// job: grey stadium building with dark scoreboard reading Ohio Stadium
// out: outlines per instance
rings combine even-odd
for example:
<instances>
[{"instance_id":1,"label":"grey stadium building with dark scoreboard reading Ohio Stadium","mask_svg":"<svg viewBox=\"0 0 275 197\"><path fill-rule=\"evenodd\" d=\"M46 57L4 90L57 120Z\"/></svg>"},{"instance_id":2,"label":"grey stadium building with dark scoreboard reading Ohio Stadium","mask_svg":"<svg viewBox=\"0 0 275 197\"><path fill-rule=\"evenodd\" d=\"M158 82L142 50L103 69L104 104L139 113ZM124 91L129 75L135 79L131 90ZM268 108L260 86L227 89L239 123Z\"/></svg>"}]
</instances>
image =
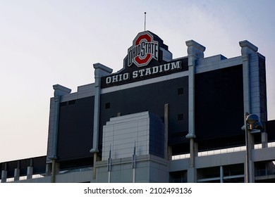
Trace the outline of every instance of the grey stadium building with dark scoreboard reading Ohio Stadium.
<instances>
[{"instance_id":1,"label":"grey stadium building with dark scoreboard reading Ohio Stadium","mask_svg":"<svg viewBox=\"0 0 275 197\"><path fill-rule=\"evenodd\" d=\"M118 72L95 63L77 92L55 84L47 155L1 163L1 182L275 182L264 56L185 43L173 59L140 32Z\"/></svg>"}]
</instances>

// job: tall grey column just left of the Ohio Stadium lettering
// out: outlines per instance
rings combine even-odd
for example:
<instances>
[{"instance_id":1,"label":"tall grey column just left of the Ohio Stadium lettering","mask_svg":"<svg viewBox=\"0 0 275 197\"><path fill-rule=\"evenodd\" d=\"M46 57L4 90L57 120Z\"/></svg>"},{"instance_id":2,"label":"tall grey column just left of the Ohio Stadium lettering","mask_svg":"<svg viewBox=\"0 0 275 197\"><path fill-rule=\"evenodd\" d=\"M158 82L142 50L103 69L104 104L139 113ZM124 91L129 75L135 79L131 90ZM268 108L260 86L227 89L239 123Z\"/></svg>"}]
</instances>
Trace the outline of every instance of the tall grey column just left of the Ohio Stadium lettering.
<instances>
[{"instance_id":1,"label":"tall grey column just left of the Ohio Stadium lettering","mask_svg":"<svg viewBox=\"0 0 275 197\"><path fill-rule=\"evenodd\" d=\"M102 65L101 63L94 64L94 128L93 128L93 141L92 149L90 153L94 156L94 170L92 177L96 179L96 161L98 158L97 153L99 152L99 113L100 113L100 94L101 94L101 81L102 77L110 75L113 70L111 68Z\"/></svg>"}]
</instances>

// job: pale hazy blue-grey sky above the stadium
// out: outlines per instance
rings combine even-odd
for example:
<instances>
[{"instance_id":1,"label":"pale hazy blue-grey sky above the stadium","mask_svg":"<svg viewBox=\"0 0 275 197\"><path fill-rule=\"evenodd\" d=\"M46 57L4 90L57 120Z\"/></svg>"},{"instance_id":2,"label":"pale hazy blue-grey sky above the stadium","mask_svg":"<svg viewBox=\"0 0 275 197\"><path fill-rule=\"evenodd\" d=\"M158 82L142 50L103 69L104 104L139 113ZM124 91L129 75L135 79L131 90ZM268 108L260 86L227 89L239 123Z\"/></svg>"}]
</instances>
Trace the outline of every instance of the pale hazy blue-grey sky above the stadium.
<instances>
[{"instance_id":1,"label":"pale hazy blue-grey sky above the stadium","mask_svg":"<svg viewBox=\"0 0 275 197\"><path fill-rule=\"evenodd\" d=\"M47 154L52 86L94 82L94 63L114 70L145 28L173 58L185 41L204 57L240 56L248 40L266 57L268 119L275 120L275 1L0 0L0 163Z\"/></svg>"}]
</instances>

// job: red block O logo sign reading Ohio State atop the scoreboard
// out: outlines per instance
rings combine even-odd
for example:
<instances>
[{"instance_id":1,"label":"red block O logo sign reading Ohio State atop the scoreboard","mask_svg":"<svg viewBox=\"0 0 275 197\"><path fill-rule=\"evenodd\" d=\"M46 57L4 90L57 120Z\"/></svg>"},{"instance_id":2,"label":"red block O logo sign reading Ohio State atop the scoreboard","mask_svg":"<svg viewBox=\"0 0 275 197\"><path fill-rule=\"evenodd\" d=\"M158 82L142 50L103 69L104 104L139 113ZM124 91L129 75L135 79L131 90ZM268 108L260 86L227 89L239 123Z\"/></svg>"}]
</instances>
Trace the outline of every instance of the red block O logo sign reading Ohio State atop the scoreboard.
<instances>
[{"instance_id":1,"label":"red block O logo sign reading Ohio State atop the scoreboard","mask_svg":"<svg viewBox=\"0 0 275 197\"><path fill-rule=\"evenodd\" d=\"M128 66L133 63L138 67L148 65L148 63L159 58L159 42L154 41L149 32L140 32L133 41L133 46L128 49Z\"/></svg>"}]
</instances>

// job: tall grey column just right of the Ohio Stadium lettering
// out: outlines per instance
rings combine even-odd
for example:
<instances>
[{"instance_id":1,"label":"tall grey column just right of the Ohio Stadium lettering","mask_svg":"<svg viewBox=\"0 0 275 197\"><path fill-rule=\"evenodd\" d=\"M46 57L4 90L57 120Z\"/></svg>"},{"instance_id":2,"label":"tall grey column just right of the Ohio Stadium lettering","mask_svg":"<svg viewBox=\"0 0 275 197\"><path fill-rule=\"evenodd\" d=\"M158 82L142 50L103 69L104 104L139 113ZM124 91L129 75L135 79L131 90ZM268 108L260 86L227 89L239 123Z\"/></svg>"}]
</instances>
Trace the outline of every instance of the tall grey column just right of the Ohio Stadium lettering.
<instances>
[{"instance_id":1,"label":"tall grey column just right of the Ohio Stadium lettering","mask_svg":"<svg viewBox=\"0 0 275 197\"><path fill-rule=\"evenodd\" d=\"M195 61L204 58L205 47L193 40L186 42L188 46L188 134L190 139L190 167L188 168L188 182L197 182L197 169L195 157L197 144L195 143Z\"/></svg>"}]
</instances>

